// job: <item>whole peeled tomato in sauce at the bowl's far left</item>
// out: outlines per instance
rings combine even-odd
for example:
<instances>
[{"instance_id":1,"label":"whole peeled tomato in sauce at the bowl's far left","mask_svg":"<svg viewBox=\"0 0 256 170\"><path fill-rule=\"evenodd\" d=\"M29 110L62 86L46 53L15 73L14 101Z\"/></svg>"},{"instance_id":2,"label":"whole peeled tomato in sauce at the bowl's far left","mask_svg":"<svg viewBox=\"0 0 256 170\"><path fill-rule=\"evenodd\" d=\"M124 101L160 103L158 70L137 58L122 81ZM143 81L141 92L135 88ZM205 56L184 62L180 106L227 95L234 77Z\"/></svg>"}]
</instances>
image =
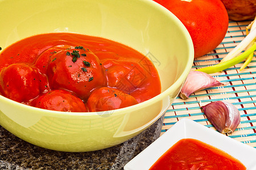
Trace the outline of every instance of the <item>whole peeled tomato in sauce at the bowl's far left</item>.
<instances>
[{"instance_id":1,"label":"whole peeled tomato in sauce at the bowl's far left","mask_svg":"<svg viewBox=\"0 0 256 170\"><path fill-rule=\"evenodd\" d=\"M20 103L39 95L39 76L25 63L14 63L2 69L0 90L3 96Z\"/></svg>"}]
</instances>

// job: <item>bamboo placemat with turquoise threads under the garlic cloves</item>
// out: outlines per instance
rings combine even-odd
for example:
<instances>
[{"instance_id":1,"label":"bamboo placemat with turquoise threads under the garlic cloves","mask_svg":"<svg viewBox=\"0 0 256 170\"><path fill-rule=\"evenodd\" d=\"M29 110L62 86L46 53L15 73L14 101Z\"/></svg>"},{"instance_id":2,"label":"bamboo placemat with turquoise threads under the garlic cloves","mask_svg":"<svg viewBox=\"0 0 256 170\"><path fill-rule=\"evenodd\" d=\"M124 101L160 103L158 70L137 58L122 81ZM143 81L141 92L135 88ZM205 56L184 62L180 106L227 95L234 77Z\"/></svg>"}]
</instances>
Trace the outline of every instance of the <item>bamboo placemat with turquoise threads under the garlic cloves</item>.
<instances>
[{"instance_id":1,"label":"bamboo placemat with turquoise threads under the garlic cloves","mask_svg":"<svg viewBox=\"0 0 256 170\"><path fill-rule=\"evenodd\" d=\"M225 39L212 52L195 59L191 70L219 63L230 50L244 39L246 36L246 26L250 24L250 22L251 21L229 22L229 28ZM196 92L189 96L189 99L187 100L182 100L177 97L165 114L160 135L184 117L199 122L210 129L216 130L201 111L200 105L206 105L211 101L226 100L234 104L241 114L240 125L232 135L229 135L229 137L256 148L255 53L250 64L244 70L240 71L242 63L243 62L238 63L224 71L210 74L218 81L225 83L225 86L208 88Z\"/></svg>"}]
</instances>

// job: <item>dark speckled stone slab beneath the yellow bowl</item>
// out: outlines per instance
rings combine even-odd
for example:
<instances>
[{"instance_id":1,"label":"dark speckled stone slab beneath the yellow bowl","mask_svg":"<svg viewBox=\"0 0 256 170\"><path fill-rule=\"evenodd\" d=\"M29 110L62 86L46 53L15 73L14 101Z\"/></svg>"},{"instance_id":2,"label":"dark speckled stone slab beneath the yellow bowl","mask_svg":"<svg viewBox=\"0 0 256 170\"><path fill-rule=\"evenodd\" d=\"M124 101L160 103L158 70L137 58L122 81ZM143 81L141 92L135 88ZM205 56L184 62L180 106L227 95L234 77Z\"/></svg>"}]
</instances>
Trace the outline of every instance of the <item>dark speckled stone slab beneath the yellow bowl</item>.
<instances>
[{"instance_id":1,"label":"dark speckled stone slab beneath the yellow bowl","mask_svg":"<svg viewBox=\"0 0 256 170\"><path fill-rule=\"evenodd\" d=\"M117 146L76 153L31 145L0 126L0 169L123 169L159 137L162 124L163 117L141 134Z\"/></svg>"}]
</instances>

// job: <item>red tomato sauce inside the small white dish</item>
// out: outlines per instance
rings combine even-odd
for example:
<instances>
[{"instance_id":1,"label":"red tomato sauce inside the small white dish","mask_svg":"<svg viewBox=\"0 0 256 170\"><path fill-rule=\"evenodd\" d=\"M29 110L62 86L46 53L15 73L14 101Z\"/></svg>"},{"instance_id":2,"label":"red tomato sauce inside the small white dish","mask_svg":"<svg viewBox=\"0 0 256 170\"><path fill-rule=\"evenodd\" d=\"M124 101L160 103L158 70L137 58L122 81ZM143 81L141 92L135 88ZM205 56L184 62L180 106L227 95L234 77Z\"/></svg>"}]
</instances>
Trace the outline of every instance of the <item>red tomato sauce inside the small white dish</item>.
<instances>
[{"instance_id":1,"label":"red tomato sauce inside the small white dish","mask_svg":"<svg viewBox=\"0 0 256 170\"><path fill-rule=\"evenodd\" d=\"M237 169L246 167L224 151L196 139L181 139L150 168L153 169Z\"/></svg>"}]
</instances>

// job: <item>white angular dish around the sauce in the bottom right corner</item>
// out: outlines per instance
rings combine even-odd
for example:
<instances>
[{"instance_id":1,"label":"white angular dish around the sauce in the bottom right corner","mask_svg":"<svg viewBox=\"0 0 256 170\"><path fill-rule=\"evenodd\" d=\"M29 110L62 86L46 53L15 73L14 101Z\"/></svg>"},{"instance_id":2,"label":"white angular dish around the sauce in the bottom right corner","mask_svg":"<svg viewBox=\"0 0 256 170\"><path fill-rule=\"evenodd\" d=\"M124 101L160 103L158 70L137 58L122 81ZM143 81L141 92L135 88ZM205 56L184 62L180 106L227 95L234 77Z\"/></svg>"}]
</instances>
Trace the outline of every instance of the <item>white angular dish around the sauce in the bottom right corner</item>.
<instances>
[{"instance_id":1,"label":"white angular dish around the sauce in the bottom right corner","mask_svg":"<svg viewBox=\"0 0 256 170\"><path fill-rule=\"evenodd\" d=\"M135 156L124 167L125 170L149 169L177 141L193 138L208 143L240 160L248 170L256 169L256 148L238 142L195 121L183 118L156 139L150 146Z\"/></svg>"}]
</instances>

